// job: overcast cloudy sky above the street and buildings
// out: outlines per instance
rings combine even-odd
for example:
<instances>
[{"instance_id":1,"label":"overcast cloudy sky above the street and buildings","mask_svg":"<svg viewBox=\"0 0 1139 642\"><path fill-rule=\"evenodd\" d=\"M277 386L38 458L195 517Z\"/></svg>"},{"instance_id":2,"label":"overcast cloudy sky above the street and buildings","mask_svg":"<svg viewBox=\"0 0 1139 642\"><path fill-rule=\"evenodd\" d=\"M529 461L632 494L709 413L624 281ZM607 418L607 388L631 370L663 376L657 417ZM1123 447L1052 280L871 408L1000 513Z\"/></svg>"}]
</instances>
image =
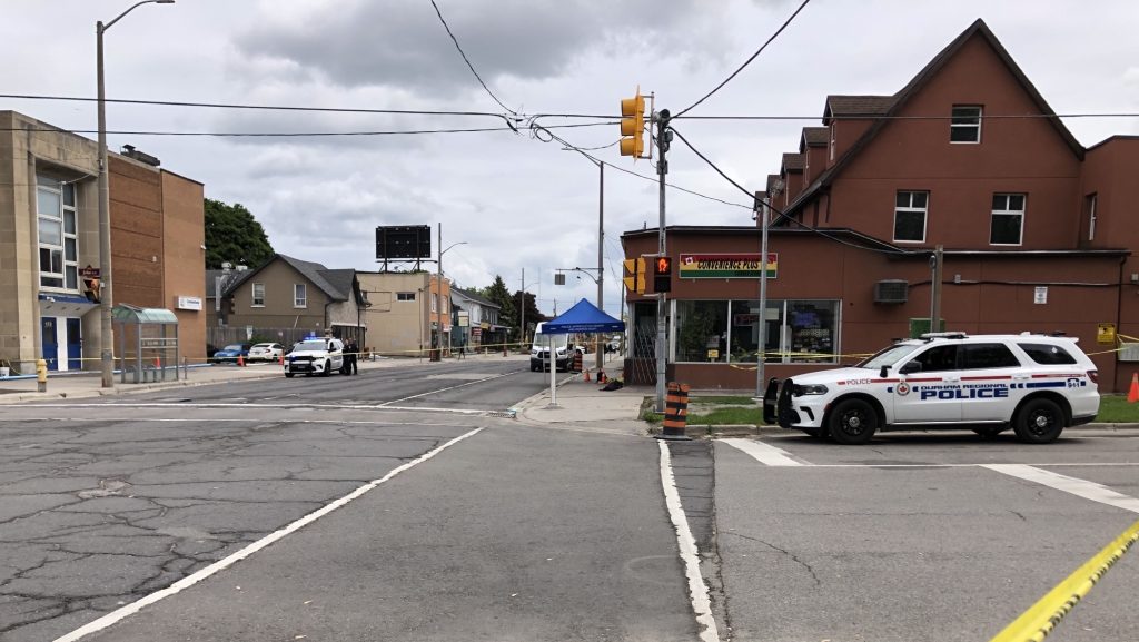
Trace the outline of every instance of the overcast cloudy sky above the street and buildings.
<instances>
[{"instance_id":1,"label":"overcast cloudy sky above the street and buildings","mask_svg":"<svg viewBox=\"0 0 1139 642\"><path fill-rule=\"evenodd\" d=\"M689 106L751 56L801 0L436 0L475 70L510 109L615 114L638 84L657 107ZM133 0L3 0L0 92L93 97L95 23ZM697 148L762 189L828 94L893 94L983 18L1059 114L1139 112L1134 0L813 0L724 89L691 115L803 121L678 121ZM338 108L505 113L480 87L429 0L178 0L139 7L106 34L107 97ZM775 89L773 89L775 88ZM92 103L0 99L72 130L95 130ZM351 132L501 127L495 117L404 116L108 105L110 131ZM547 125L599 122L548 117ZM1137 119L1068 119L1083 145L1139 133ZM555 130L581 147L615 124ZM95 135L90 135L93 139ZM460 286L526 271L549 314L595 300L598 170L527 132L216 138L116 135L162 166L247 206L278 252L329 268L375 270L375 228L443 227ZM614 165L653 176L609 147ZM752 225L746 196L677 141L670 225ZM606 169L605 308L620 307L620 235L657 222L656 186ZM433 238L434 246L434 238Z\"/></svg>"}]
</instances>

